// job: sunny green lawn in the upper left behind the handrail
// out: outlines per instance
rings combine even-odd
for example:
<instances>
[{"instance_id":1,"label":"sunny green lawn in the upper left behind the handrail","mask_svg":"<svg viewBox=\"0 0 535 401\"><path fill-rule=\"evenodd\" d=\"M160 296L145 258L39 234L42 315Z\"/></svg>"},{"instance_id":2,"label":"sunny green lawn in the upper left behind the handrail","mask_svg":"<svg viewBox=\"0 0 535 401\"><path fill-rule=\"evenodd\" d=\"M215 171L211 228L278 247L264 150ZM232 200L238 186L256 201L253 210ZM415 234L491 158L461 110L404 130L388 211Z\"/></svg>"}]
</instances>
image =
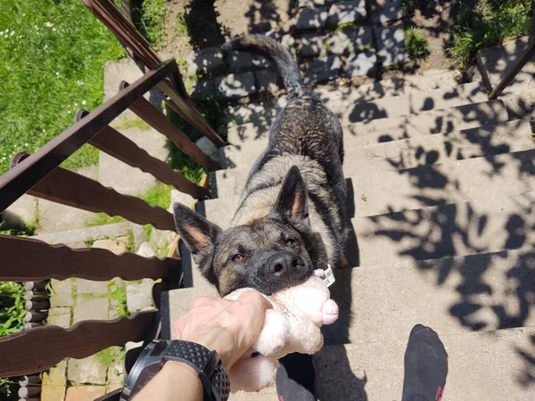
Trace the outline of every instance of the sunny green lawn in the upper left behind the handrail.
<instances>
[{"instance_id":1,"label":"sunny green lawn in the upper left behind the handrail","mask_svg":"<svg viewBox=\"0 0 535 401\"><path fill-rule=\"evenodd\" d=\"M0 7L0 174L103 101L103 65L124 50L79 0L3 0ZM86 146L67 160L95 163Z\"/></svg>"}]
</instances>

